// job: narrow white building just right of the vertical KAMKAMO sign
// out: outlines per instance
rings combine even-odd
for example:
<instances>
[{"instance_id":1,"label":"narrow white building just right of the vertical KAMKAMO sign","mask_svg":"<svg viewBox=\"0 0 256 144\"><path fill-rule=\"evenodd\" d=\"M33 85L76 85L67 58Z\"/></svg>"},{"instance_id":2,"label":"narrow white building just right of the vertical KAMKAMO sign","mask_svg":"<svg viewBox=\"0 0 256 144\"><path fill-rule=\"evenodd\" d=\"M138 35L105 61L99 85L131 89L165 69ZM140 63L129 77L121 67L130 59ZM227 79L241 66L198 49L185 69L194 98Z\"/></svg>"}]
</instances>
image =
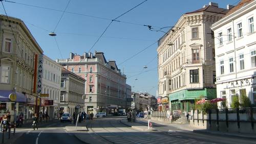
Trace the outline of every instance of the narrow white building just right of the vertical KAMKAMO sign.
<instances>
[{"instance_id":1,"label":"narrow white building just right of the vertical KAMKAMO sign","mask_svg":"<svg viewBox=\"0 0 256 144\"><path fill-rule=\"evenodd\" d=\"M57 117L59 112L61 68L60 64L44 55L41 111L47 111L51 118ZM43 94L48 97L42 97ZM47 103L49 100L53 101L53 105Z\"/></svg>"}]
</instances>

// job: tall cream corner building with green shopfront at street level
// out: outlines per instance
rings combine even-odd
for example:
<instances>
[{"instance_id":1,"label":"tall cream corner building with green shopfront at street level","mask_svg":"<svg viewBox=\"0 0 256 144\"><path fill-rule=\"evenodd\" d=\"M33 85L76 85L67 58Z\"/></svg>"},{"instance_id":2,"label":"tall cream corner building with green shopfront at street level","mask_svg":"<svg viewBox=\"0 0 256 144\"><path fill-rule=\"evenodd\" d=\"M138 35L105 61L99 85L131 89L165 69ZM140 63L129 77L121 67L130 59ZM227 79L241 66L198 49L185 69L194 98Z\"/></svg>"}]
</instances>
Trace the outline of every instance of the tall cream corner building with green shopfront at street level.
<instances>
[{"instance_id":1,"label":"tall cream corner building with green shopfront at street level","mask_svg":"<svg viewBox=\"0 0 256 144\"><path fill-rule=\"evenodd\" d=\"M215 43L210 26L228 10L209 3L183 14L158 41L158 102L160 110L189 111L195 99L216 97ZM165 101L164 101L165 102Z\"/></svg>"}]
</instances>

